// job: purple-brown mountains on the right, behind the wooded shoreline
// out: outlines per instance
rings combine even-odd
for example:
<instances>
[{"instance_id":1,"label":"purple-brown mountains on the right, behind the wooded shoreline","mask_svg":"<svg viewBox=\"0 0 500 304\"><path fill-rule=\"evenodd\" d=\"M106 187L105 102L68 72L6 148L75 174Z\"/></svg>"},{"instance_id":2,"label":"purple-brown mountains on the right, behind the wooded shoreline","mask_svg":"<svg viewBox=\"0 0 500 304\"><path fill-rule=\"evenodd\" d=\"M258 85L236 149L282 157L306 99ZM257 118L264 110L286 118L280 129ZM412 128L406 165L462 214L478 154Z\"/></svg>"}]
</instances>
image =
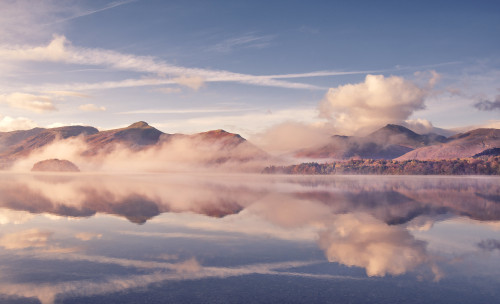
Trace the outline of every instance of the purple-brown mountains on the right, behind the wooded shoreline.
<instances>
[{"instance_id":1,"label":"purple-brown mountains on the right, behind the wooded shoreline","mask_svg":"<svg viewBox=\"0 0 500 304\"><path fill-rule=\"evenodd\" d=\"M388 124L363 137L334 135L326 145L301 149L294 156L333 160L437 160L473 157L497 147L500 147L498 129L475 129L444 137L434 133L417 134L403 126Z\"/></svg>"}]
</instances>

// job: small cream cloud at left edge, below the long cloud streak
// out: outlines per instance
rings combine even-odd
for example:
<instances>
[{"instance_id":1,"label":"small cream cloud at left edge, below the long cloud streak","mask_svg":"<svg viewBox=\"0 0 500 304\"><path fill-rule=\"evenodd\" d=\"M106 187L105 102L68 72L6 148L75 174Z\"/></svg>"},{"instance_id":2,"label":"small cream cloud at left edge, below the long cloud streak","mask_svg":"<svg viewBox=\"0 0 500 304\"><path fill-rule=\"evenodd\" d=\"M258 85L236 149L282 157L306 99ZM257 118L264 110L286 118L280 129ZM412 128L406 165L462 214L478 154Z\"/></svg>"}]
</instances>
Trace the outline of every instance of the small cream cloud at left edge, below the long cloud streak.
<instances>
[{"instance_id":1,"label":"small cream cloud at left edge, below the long cloud streak","mask_svg":"<svg viewBox=\"0 0 500 304\"><path fill-rule=\"evenodd\" d=\"M54 100L47 95L33 95L27 93L11 93L0 95L0 102L10 107L42 113L56 111Z\"/></svg>"}]
</instances>

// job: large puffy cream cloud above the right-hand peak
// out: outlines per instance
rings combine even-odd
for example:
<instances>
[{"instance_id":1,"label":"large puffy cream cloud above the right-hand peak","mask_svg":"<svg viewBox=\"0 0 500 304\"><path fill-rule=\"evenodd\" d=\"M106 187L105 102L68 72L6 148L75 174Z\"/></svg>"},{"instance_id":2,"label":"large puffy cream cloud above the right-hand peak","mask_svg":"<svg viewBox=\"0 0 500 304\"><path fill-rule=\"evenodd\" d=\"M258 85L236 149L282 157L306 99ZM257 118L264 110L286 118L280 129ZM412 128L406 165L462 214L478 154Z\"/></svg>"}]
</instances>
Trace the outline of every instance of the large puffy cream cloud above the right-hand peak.
<instances>
[{"instance_id":1,"label":"large puffy cream cloud above the right-hand peak","mask_svg":"<svg viewBox=\"0 0 500 304\"><path fill-rule=\"evenodd\" d=\"M319 104L320 117L347 133L401 123L425 107L436 77L418 86L399 76L367 75L362 83L329 89Z\"/></svg>"}]
</instances>

